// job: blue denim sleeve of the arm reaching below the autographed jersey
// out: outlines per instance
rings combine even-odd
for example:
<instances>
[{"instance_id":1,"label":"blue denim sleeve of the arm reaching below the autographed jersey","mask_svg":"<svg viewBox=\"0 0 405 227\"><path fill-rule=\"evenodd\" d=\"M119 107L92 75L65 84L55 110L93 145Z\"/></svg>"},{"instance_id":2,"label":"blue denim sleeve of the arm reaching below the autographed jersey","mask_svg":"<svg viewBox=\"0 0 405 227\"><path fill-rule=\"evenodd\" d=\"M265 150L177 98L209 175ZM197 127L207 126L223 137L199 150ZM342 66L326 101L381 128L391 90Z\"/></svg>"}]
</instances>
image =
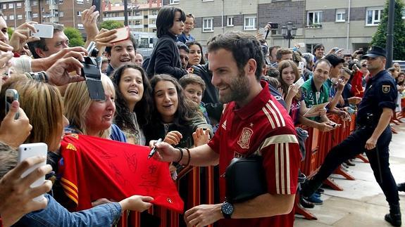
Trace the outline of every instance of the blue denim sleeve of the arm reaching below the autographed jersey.
<instances>
[{"instance_id":1,"label":"blue denim sleeve of the arm reaching below the autographed jersey","mask_svg":"<svg viewBox=\"0 0 405 227\"><path fill-rule=\"evenodd\" d=\"M46 194L45 197L48 200L45 209L25 214L14 226L113 226L121 216L121 206L118 202L106 203L81 212L69 212L51 195Z\"/></svg>"}]
</instances>

